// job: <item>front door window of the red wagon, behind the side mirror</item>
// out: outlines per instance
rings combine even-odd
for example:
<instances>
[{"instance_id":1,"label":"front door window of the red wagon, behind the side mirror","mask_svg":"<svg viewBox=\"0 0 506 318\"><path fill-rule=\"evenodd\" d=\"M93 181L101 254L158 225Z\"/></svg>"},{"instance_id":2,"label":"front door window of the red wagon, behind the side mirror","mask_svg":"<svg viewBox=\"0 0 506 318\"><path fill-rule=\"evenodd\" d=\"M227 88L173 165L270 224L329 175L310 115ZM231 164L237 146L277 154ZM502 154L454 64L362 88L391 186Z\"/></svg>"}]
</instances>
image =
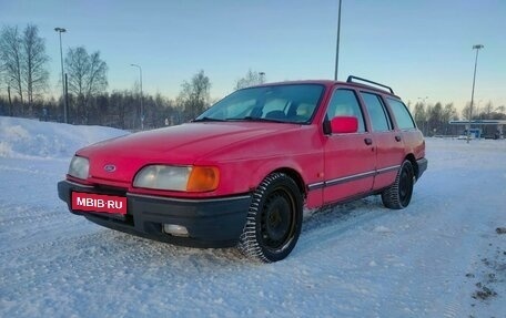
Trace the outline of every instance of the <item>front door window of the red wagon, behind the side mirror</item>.
<instances>
[{"instance_id":1,"label":"front door window of the red wagon, behind the side mirror","mask_svg":"<svg viewBox=\"0 0 506 318\"><path fill-rule=\"evenodd\" d=\"M328 120L335 116L355 116L358 120L358 133L365 132L364 115L354 91L336 90L328 103L326 115Z\"/></svg>"}]
</instances>

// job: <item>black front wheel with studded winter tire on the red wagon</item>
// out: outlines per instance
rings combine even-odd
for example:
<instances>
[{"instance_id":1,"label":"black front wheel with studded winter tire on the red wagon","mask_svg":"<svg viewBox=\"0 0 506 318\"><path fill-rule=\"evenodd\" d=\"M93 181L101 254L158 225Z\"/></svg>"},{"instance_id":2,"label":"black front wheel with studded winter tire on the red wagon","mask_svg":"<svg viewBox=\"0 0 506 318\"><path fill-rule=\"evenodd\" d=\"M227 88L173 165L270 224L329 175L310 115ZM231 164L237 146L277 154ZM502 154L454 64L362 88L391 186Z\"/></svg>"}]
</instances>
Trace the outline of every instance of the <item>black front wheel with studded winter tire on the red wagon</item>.
<instances>
[{"instance_id":1,"label":"black front wheel with studded winter tire on the red wagon","mask_svg":"<svg viewBox=\"0 0 506 318\"><path fill-rule=\"evenodd\" d=\"M302 195L284 173L265 177L253 193L237 248L263 263L284 259L297 243L302 227Z\"/></svg>"}]
</instances>

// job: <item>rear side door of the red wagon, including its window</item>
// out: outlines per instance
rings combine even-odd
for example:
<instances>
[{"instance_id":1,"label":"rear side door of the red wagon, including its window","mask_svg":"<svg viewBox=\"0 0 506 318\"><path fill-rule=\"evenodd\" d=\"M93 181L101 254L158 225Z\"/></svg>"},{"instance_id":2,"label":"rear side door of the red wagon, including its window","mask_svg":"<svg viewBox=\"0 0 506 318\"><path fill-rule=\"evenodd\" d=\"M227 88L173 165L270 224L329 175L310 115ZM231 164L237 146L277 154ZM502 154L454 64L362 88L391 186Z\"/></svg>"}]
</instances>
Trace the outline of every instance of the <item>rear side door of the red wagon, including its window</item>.
<instances>
[{"instance_id":1,"label":"rear side door of the red wagon, including its window","mask_svg":"<svg viewBox=\"0 0 506 318\"><path fill-rule=\"evenodd\" d=\"M373 189L381 189L394 183L404 161L402 134L394 130L392 117L380 94L361 91L360 93L371 123L376 153L376 175Z\"/></svg>"}]
</instances>

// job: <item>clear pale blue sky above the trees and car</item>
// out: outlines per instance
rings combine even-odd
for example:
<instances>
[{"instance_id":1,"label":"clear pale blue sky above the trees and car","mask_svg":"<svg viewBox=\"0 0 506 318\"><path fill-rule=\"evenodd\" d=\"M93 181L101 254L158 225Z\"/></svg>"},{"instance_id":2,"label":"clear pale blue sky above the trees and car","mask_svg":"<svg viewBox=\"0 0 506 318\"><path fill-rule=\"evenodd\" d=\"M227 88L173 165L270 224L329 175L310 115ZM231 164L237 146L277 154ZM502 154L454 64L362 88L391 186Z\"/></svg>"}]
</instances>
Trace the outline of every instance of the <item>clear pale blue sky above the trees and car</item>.
<instances>
[{"instance_id":1,"label":"clear pale blue sky above the trees and car","mask_svg":"<svg viewBox=\"0 0 506 318\"><path fill-rule=\"evenodd\" d=\"M175 98L181 83L204 70L212 98L232 92L249 69L267 81L333 79L337 0L73 1L0 0L0 24L39 27L59 92L63 49L99 50L109 65L109 91L143 89ZM340 80L348 74L391 85L405 102L470 100L506 105L506 1L343 0Z\"/></svg>"}]
</instances>

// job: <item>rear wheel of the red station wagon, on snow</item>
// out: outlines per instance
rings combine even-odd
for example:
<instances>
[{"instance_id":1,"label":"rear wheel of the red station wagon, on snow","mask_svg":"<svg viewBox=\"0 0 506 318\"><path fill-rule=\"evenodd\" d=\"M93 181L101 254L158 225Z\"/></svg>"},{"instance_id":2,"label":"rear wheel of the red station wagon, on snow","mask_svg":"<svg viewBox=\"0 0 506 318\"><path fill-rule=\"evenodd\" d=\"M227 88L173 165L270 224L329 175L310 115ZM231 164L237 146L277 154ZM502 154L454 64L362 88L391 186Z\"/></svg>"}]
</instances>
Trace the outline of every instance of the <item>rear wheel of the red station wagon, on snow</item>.
<instances>
[{"instance_id":1,"label":"rear wheel of the red station wagon, on snow","mask_svg":"<svg viewBox=\"0 0 506 318\"><path fill-rule=\"evenodd\" d=\"M402 209L408 206L413 195L415 173L413 164L406 160L401 166L394 184L382 192L383 205L393 209Z\"/></svg>"}]
</instances>

